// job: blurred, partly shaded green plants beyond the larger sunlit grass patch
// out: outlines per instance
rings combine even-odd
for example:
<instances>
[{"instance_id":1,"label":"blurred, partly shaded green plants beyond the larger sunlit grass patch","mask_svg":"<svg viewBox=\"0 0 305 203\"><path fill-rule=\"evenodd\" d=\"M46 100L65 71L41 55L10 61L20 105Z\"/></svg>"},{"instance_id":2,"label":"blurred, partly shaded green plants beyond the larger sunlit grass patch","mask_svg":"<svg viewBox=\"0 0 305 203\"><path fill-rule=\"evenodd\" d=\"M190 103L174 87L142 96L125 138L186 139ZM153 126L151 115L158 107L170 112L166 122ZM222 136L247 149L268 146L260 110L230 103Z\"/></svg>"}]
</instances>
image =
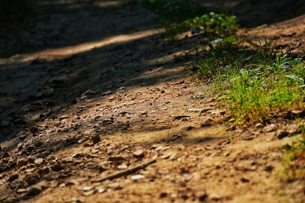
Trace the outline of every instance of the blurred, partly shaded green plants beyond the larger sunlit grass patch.
<instances>
[{"instance_id":1,"label":"blurred, partly shaded green plants beyond the larger sunlit grass patch","mask_svg":"<svg viewBox=\"0 0 305 203\"><path fill-rule=\"evenodd\" d=\"M159 15L159 23L165 28L169 40L178 40L177 35L192 30L192 33L204 32L210 38L213 35L231 35L238 27L235 16L215 14L198 6L196 0L127 0L140 2ZM200 17L198 17L200 16Z\"/></svg>"}]
</instances>

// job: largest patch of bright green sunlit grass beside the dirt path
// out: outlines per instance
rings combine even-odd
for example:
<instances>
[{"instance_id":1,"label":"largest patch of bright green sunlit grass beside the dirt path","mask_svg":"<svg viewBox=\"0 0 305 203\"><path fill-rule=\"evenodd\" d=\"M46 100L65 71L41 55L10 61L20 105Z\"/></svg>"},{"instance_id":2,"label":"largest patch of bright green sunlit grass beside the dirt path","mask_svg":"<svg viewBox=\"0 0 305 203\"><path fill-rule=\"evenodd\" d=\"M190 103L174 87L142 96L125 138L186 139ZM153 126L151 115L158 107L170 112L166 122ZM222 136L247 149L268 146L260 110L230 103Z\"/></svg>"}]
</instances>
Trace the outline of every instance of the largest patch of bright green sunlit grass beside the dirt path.
<instances>
[{"instance_id":1,"label":"largest patch of bright green sunlit grass beside the dirt path","mask_svg":"<svg viewBox=\"0 0 305 203\"><path fill-rule=\"evenodd\" d=\"M272 111L304 109L305 68L302 57L270 55L247 41L218 40L198 66L202 79L212 78L212 92L239 122L272 119Z\"/></svg>"}]
</instances>

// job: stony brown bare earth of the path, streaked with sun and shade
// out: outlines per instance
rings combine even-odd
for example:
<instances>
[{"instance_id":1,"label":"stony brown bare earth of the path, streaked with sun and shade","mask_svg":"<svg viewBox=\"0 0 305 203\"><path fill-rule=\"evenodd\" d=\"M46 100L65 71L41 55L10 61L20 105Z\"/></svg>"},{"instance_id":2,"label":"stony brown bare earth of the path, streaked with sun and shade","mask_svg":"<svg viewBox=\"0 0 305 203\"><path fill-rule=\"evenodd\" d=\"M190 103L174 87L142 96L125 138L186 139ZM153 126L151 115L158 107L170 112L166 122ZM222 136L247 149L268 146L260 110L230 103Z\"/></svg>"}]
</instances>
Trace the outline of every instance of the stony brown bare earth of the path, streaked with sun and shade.
<instances>
[{"instance_id":1,"label":"stony brown bare earth of the path, streaked with sun and shade","mask_svg":"<svg viewBox=\"0 0 305 203\"><path fill-rule=\"evenodd\" d=\"M209 85L185 71L192 61L174 61L204 37L166 41L157 15L138 4L38 2L46 15L24 32L19 54L0 59L0 202L304 203L304 180L280 181L291 140L277 132L297 133L298 123L232 129ZM305 54L298 3L295 15L256 22L247 6L266 5L237 2L232 11L252 26L237 35Z\"/></svg>"}]
</instances>

